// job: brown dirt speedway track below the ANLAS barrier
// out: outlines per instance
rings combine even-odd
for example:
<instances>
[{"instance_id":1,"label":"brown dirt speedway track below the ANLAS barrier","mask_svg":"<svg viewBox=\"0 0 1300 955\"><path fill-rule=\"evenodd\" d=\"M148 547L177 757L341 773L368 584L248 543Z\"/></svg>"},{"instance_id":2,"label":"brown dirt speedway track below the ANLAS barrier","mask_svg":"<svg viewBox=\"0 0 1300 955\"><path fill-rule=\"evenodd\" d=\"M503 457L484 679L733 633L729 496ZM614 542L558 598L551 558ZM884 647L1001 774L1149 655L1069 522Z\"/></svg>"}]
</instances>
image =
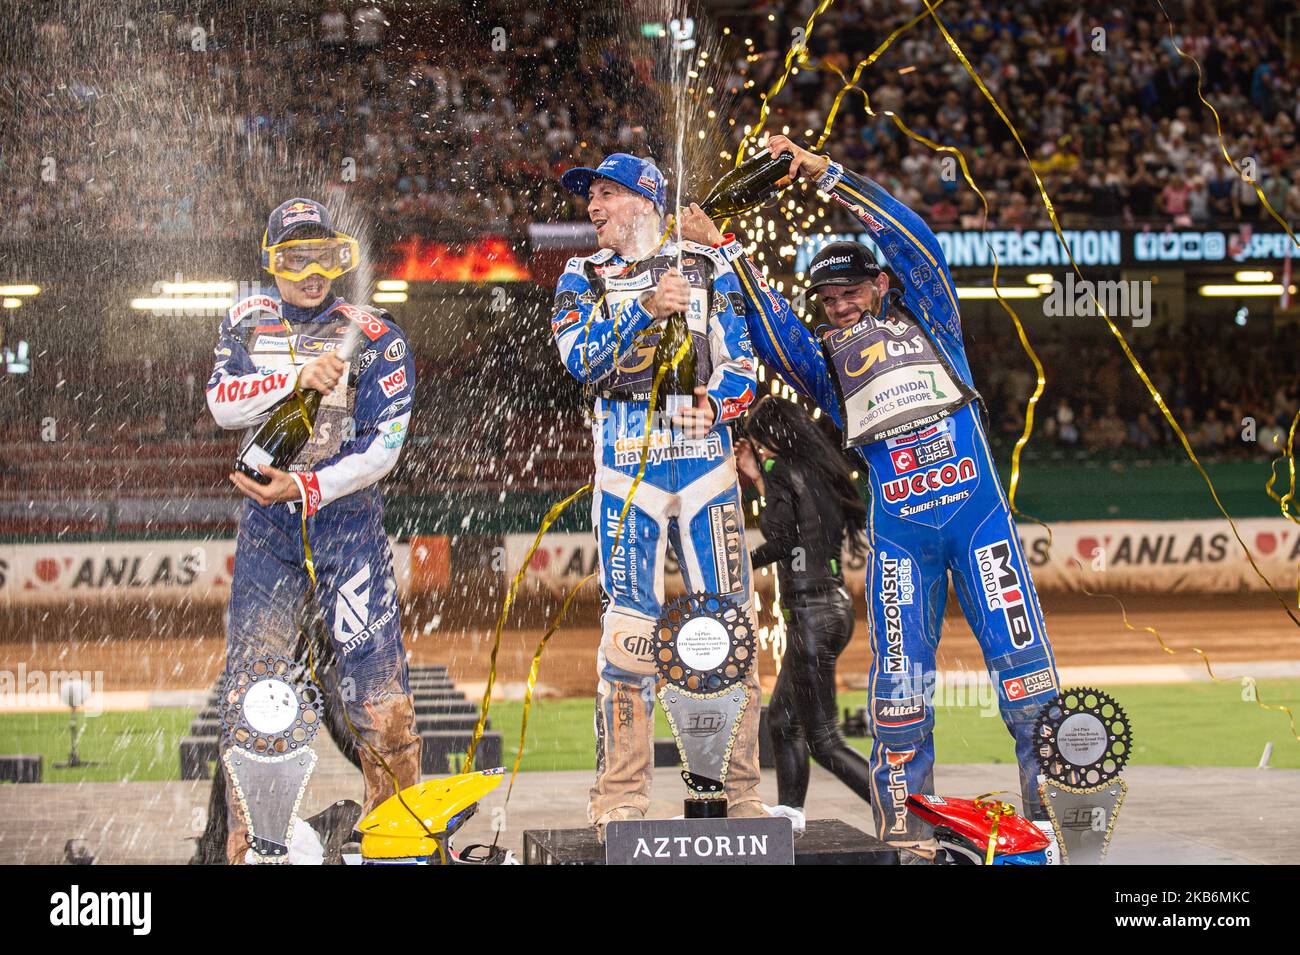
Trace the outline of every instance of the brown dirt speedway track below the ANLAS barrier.
<instances>
[{"instance_id":1,"label":"brown dirt speedway track below the ANLAS barrier","mask_svg":"<svg viewBox=\"0 0 1300 955\"><path fill-rule=\"evenodd\" d=\"M1105 598L1045 595L1048 633L1063 667L1183 664L1200 665L1191 651L1202 648L1212 661L1300 660L1300 629L1271 595L1134 595L1124 598L1138 633L1124 629L1119 608ZM29 612L30 613L30 612ZM498 680L519 683L528 676L537 643L554 613L547 602L533 602L512 615L502 637ZM462 617L464 615L456 615ZM594 604L576 605L542 657L541 682L558 695L594 693L594 657L599 641ZM429 625L420 608L407 613L407 647L416 664L445 663L458 682L481 683L488 677L494 613ZM533 626L519 628L520 621ZM0 621L0 669L26 664L29 670L103 670L105 690L179 690L211 686L225 644L221 615L214 608L157 615L120 608L44 611L39 616ZM1141 628L1153 626L1179 652L1160 650ZM156 637L159 631L168 637ZM69 637L74 634L74 637ZM771 655L760 656L764 683L775 677ZM862 607L853 643L840 664L841 685L863 686L871 660ZM939 648L940 669L982 670L983 657L965 620L950 602Z\"/></svg>"}]
</instances>

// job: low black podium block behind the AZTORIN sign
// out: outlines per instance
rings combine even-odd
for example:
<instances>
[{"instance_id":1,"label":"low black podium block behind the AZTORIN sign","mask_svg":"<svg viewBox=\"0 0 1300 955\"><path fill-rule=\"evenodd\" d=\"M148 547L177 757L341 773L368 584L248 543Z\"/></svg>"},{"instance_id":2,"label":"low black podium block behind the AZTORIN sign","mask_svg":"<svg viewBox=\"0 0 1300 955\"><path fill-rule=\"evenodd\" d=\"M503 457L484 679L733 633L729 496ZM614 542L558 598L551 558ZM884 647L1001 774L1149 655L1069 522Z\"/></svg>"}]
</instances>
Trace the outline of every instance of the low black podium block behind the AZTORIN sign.
<instances>
[{"instance_id":1,"label":"low black podium block behind the AZTORIN sign","mask_svg":"<svg viewBox=\"0 0 1300 955\"><path fill-rule=\"evenodd\" d=\"M525 865L604 865L595 829L528 829ZM809 820L794 839L796 865L897 865L898 854L861 829L837 819Z\"/></svg>"}]
</instances>

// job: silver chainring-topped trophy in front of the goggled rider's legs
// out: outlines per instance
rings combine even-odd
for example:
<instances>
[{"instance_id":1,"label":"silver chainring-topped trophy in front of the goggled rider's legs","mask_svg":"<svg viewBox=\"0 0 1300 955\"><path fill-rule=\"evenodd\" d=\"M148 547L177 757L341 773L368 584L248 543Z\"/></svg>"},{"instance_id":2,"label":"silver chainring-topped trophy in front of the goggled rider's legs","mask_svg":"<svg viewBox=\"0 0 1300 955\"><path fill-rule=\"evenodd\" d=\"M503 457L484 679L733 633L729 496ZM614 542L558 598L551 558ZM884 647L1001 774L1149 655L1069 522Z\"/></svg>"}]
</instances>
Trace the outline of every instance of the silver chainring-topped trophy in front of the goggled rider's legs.
<instances>
[{"instance_id":1,"label":"silver chainring-topped trophy in front of the goggled rider's legs","mask_svg":"<svg viewBox=\"0 0 1300 955\"><path fill-rule=\"evenodd\" d=\"M221 687L221 761L248 825L254 861L287 863L298 804L316 767L321 691L282 656L239 663Z\"/></svg>"}]
</instances>

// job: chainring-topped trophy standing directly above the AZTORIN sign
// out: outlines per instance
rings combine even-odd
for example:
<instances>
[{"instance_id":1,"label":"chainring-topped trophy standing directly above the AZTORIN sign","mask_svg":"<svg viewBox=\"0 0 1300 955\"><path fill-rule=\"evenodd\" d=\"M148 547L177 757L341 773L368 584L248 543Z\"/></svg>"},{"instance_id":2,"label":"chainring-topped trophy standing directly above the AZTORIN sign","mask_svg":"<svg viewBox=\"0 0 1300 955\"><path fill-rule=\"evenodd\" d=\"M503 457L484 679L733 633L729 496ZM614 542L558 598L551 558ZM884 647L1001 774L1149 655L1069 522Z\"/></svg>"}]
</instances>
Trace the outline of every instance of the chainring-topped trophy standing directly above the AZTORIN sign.
<instances>
[{"instance_id":1,"label":"chainring-topped trophy standing directly above the AZTORIN sign","mask_svg":"<svg viewBox=\"0 0 1300 955\"><path fill-rule=\"evenodd\" d=\"M681 755L686 819L727 815L727 769L749 703L744 680L754 661L749 616L718 594L686 594L655 626L659 704Z\"/></svg>"}]
</instances>

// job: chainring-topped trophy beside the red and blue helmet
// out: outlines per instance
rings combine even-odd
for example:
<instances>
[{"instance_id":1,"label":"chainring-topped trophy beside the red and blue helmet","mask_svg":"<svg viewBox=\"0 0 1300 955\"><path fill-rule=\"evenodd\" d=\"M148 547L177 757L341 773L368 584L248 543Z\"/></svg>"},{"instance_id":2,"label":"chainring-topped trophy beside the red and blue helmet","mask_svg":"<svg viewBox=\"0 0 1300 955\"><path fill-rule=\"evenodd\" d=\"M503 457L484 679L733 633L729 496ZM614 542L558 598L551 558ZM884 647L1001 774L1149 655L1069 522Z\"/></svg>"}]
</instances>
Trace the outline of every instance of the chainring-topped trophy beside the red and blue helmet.
<instances>
[{"instance_id":1,"label":"chainring-topped trophy beside the red and blue helmet","mask_svg":"<svg viewBox=\"0 0 1300 955\"><path fill-rule=\"evenodd\" d=\"M1132 746L1128 716L1101 690L1075 687L1043 707L1034 730L1061 861L1100 865L1128 791L1119 778Z\"/></svg>"}]
</instances>

